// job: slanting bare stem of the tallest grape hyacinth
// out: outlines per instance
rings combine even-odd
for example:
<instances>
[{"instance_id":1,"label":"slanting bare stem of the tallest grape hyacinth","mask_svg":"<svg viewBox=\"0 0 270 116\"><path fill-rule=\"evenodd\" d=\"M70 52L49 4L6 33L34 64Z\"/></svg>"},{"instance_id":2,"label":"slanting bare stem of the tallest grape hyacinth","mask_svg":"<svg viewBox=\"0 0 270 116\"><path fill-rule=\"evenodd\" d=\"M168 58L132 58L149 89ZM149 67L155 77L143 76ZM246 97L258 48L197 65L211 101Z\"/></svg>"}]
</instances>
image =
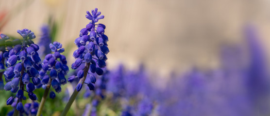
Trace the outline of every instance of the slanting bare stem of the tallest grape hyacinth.
<instances>
[{"instance_id":1,"label":"slanting bare stem of the tallest grape hyacinth","mask_svg":"<svg viewBox=\"0 0 270 116\"><path fill-rule=\"evenodd\" d=\"M90 67L90 63L87 63L87 64L85 64L85 65L86 65L86 66L85 66L85 68L84 68L84 77L83 77L83 78L80 80L80 82L79 82L79 83L81 83L81 84L83 84L83 85L84 85L85 78L86 78L86 76L87 76L87 72L88 72L89 67ZM78 84L79 84L79 83L78 83ZM72 103L74 102L74 100L75 100L76 96L78 95L78 93L79 93L79 91L77 91L77 88L75 88L75 90L74 90L74 92L72 93L72 95L70 96L70 98L69 98L69 100L68 100L68 102L67 102L67 105L66 105L64 111L62 112L61 116L67 116L67 112L68 112L68 110L70 109L70 107L71 107Z\"/></svg>"}]
</instances>

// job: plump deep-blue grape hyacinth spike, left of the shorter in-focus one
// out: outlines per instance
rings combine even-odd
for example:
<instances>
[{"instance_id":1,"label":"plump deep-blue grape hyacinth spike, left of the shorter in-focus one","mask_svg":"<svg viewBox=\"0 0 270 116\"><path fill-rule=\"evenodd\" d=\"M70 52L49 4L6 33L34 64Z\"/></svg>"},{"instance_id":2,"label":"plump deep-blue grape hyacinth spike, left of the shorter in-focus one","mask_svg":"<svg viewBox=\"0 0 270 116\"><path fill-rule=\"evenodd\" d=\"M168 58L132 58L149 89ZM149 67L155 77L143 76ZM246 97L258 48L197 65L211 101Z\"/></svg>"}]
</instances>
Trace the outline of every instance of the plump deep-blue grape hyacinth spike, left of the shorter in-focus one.
<instances>
[{"instance_id":1,"label":"plump deep-blue grape hyacinth spike, left of the shorter in-focus one","mask_svg":"<svg viewBox=\"0 0 270 116\"><path fill-rule=\"evenodd\" d=\"M9 50L9 58L6 62L8 68L4 72L7 80L4 89L17 93L15 115L18 114L18 111L20 113L24 111L22 104L24 91L28 92L31 100L35 101L37 99L33 91L40 85L38 71L42 68L41 59L37 53L39 47L32 41L35 38L34 32L29 29L17 30L17 32L23 37L23 40L22 42L16 40L18 44ZM32 80L32 83L30 80ZM24 89L25 86L26 90Z\"/></svg>"}]
</instances>

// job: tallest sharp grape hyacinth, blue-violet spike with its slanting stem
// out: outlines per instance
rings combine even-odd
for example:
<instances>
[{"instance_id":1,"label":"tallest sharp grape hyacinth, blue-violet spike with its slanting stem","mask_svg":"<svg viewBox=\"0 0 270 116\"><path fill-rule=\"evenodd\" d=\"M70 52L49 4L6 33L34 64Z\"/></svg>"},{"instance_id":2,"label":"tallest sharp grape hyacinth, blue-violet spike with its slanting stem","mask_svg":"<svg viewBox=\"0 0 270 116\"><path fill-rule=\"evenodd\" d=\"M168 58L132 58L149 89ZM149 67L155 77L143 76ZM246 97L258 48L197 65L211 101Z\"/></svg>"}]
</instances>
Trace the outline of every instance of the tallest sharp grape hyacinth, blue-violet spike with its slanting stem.
<instances>
[{"instance_id":1,"label":"tallest sharp grape hyacinth, blue-violet spike with its slanting stem","mask_svg":"<svg viewBox=\"0 0 270 116\"><path fill-rule=\"evenodd\" d=\"M109 53L107 47L108 37L104 34L106 27L103 24L96 24L100 19L104 18L104 15L101 15L101 12L98 12L98 9L95 8L91 13L87 11L85 17L90 20L90 23L84 29L81 29L79 37L74 41L78 49L73 52L73 57L76 58L76 61L71 65L71 69L75 70L80 65L84 65L84 63L85 66L84 70L74 75L76 78L80 78L80 82L67 102L67 106L61 116L67 115L67 111L83 87L87 73L102 75L102 68L106 66L106 54Z\"/></svg>"}]
</instances>

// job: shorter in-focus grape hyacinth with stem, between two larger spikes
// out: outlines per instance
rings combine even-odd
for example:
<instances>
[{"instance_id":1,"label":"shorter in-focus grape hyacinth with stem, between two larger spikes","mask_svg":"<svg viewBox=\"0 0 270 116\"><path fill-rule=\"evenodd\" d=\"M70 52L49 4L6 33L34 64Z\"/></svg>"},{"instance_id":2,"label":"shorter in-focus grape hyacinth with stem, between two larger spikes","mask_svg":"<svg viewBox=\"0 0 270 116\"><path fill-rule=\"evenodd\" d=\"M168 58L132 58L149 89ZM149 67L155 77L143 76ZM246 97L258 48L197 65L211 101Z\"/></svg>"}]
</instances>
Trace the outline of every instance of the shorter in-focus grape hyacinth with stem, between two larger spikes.
<instances>
[{"instance_id":1,"label":"shorter in-focus grape hyacinth with stem, between two larger spikes","mask_svg":"<svg viewBox=\"0 0 270 116\"><path fill-rule=\"evenodd\" d=\"M43 60L42 69L39 72L41 76L41 84L45 86L45 92L40 102L40 107L37 112L37 116L41 115L44 103L49 94L50 87L52 87L55 92L61 92L61 85L65 85L67 83L67 79L65 75L68 73L67 60L63 53L65 51L62 48L62 44L59 42L50 43L51 51L54 54L48 54L45 56ZM47 74L48 73L48 74ZM55 98L55 93L53 91L50 92L50 98Z\"/></svg>"}]
</instances>

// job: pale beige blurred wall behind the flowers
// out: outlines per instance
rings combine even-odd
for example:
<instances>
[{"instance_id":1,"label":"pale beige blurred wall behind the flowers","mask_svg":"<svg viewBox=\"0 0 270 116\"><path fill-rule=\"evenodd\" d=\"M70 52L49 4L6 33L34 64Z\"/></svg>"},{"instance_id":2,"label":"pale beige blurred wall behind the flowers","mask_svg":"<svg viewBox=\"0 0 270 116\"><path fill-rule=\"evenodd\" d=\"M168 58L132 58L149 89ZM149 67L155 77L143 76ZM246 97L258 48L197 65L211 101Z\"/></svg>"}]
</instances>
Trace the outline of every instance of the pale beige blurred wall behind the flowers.
<instances>
[{"instance_id":1,"label":"pale beige blurred wall behind the flowers","mask_svg":"<svg viewBox=\"0 0 270 116\"><path fill-rule=\"evenodd\" d=\"M18 36L17 29L28 28L39 35L51 14L61 26L57 41L74 47L72 54L75 45L67 44L89 22L85 12L94 8L105 15L99 23L106 25L109 37L109 68L144 62L166 74L215 67L219 46L242 42L247 23L259 28L270 49L270 0L0 0L0 11L12 17L2 33ZM71 54L69 61L74 60Z\"/></svg>"}]
</instances>

